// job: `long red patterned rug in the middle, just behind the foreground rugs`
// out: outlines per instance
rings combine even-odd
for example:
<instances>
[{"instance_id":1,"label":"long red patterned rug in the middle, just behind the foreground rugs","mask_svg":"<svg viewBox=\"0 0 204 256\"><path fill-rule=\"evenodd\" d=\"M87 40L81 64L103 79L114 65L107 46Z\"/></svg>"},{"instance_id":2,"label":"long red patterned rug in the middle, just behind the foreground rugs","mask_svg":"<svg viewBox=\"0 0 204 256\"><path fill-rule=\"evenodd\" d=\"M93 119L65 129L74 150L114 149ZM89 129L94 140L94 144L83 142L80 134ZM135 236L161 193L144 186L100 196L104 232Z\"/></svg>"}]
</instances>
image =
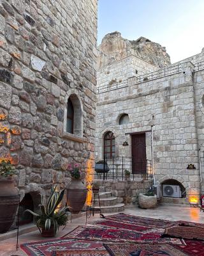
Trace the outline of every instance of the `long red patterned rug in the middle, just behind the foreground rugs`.
<instances>
[{"instance_id":1,"label":"long red patterned rug in the middle, just behind the foreground rugs","mask_svg":"<svg viewBox=\"0 0 204 256\"><path fill-rule=\"evenodd\" d=\"M98 241L185 244L183 239L171 237L161 238L161 235L156 232L143 234L122 228L94 226L78 226L64 237L73 239L94 239Z\"/></svg>"}]
</instances>

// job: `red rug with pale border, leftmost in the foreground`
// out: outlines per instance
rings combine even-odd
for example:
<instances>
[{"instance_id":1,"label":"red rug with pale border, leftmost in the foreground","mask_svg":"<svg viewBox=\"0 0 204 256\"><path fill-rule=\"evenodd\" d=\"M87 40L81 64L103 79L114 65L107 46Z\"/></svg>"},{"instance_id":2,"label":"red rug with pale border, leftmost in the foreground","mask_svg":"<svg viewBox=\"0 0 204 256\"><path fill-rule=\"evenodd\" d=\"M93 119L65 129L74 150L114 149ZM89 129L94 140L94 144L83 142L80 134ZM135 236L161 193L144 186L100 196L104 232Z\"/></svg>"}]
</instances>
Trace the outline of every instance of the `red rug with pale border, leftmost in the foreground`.
<instances>
[{"instance_id":1,"label":"red rug with pale border, leftmost in the foreground","mask_svg":"<svg viewBox=\"0 0 204 256\"><path fill-rule=\"evenodd\" d=\"M87 240L68 239L68 238L21 244L20 248L24 250L24 252L27 253L27 255L29 256L51 256L52 251L58 251L58 250L59 251L68 250L68 252L70 250L71 253L73 253L73 251L82 252L82 250L89 250L89 253L95 252L96 250L105 252L105 248L101 241L87 241ZM63 254L59 254L59 255L63 255ZM75 255L75 254L67 254L67 255ZM78 256L80 254L76 254L76 255ZM87 254L87 256L88 255L92 256L94 254ZM108 254L106 253L101 255L108 255Z\"/></svg>"}]
</instances>

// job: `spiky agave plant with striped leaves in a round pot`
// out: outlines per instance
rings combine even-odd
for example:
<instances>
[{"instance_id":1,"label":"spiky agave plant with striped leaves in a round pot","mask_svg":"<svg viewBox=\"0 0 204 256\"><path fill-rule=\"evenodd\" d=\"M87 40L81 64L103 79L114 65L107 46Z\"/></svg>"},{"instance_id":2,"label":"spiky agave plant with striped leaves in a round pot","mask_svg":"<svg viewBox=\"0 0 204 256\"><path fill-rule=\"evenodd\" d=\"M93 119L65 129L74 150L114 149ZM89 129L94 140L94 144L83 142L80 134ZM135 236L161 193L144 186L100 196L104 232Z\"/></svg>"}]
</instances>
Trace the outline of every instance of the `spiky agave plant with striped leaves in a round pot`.
<instances>
[{"instance_id":1,"label":"spiky agave plant with striped leaves in a round pot","mask_svg":"<svg viewBox=\"0 0 204 256\"><path fill-rule=\"evenodd\" d=\"M71 212L68 211L67 206L60 209L64 191L57 191L57 185L52 186L50 196L45 204L43 196L41 196L40 213L33 212L29 209L25 212L31 212L34 216L34 222L40 230L43 237L54 237L60 226L66 225L68 221L68 215ZM58 208L59 207L59 208Z\"/></svg>"}]
</instances>

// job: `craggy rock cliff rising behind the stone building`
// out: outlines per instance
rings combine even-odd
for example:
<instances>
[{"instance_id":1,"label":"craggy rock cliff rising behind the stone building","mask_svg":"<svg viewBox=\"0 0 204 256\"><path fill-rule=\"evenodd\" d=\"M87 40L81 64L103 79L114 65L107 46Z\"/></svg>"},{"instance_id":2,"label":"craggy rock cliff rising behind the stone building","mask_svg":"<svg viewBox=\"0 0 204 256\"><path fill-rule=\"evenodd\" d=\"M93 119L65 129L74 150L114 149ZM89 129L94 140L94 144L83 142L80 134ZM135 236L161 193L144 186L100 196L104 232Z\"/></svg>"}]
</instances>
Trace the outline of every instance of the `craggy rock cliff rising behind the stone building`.
<instances>
[{"instance_id":1,"label":"craggy rock cliff rising behind the stone building","mask_svg":"<svg viewBox=\"0 0 204 256\"><path fill-rule=\"evenodd\" d=\"M117 31L105 35L98 50L98 68L105 67L129 55L142 58L160 68L171 64L170 56L166 53L165 47L144 37L129 41L122 38Z\"/></svg>"}]
</instances>

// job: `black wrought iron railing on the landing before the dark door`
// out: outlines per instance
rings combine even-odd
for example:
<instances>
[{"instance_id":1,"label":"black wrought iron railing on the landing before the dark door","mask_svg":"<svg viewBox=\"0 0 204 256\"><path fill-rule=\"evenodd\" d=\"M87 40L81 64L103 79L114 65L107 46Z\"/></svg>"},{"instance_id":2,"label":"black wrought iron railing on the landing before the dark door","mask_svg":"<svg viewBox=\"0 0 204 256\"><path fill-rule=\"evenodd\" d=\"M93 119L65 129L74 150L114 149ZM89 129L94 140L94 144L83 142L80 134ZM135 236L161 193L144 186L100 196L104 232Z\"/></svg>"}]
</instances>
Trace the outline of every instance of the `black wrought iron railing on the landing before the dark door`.
<instances>
[{"instance_id":1,"label":"black wrought iron railing on the landing before the dark door","mask_svg":"<svg viewBox=\"0 0 204 256\"><path fill-rule=\"evenodd\" d=\"M112 157L96 160L94 167L95 179L125 180L126 171L129 170L130 180L152 180L152 161L149 159L133 160L131 157Z\"/></svg>"}]
</instances>

